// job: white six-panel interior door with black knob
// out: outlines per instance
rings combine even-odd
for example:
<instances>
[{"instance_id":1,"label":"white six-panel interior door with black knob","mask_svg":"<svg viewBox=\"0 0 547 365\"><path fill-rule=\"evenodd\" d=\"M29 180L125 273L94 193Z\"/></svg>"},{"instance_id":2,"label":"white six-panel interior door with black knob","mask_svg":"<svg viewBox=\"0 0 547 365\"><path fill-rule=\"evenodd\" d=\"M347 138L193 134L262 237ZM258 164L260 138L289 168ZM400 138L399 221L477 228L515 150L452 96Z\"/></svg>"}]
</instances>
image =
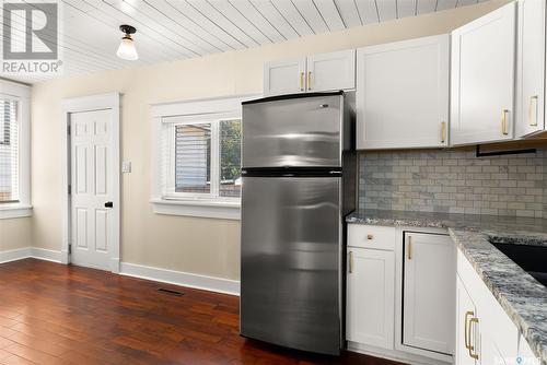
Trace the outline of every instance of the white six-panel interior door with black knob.
<instances>
[{"instance_id":1,"label":"white six-panel interior door with black knob","mask_svg":"<svg viewBox=\"0 0 547 365\"><path fill-rule=\"evenodd\" d=\"M115 176L118 144L113 109L70 114L71 262L110 270L115 240Z\"/></svg>"}]
</instances>

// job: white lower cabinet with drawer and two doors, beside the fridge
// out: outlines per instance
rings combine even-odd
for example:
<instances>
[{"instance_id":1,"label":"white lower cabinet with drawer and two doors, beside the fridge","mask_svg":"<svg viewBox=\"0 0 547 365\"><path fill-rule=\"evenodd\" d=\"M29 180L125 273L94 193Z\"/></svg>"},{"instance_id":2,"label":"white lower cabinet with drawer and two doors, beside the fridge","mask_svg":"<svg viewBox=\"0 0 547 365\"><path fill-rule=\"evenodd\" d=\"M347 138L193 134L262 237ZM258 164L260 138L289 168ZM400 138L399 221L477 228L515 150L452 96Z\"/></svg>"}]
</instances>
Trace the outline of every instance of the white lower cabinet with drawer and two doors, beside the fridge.
<instances>
[{"instance_id":1,"label":"white lower cabinet with drawer and two doors, beside the fridge","mask_svg":"<svg viewBox=\"0 0 547 365\"><path fill-rule=\"evenodd\" d=\"M347 251L350 350L410 364L451 362L456 271L452 238L441 229L409 233L350 224Z\"/></svg>"}]
</instances>

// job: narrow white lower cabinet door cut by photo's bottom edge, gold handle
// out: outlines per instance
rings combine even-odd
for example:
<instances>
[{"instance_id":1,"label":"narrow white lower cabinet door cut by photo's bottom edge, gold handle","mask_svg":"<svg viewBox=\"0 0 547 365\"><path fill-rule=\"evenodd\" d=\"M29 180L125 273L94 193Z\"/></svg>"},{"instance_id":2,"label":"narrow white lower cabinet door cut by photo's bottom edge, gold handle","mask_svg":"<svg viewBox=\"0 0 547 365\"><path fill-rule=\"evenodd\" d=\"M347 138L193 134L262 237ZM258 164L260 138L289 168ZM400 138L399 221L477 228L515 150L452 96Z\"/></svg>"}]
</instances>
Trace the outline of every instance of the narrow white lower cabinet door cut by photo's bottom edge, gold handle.
<instances>
[{"instance_id":1,"label":"narrow white lower cabinet door cut by photo's bottom edge, gold handle","mask_svg":"<svg viewBox=\"0 0 547 365\"><path fill-rule=\"evenodd\" d=\"M456 279L456 349L454 349L454 364L475 365L478 354L476 346L478 327L473 318L476 318L477 309L470 295L467 293L459 276ZM472 319L474 320L472 322Z\"/></svg>"}]
</instances>

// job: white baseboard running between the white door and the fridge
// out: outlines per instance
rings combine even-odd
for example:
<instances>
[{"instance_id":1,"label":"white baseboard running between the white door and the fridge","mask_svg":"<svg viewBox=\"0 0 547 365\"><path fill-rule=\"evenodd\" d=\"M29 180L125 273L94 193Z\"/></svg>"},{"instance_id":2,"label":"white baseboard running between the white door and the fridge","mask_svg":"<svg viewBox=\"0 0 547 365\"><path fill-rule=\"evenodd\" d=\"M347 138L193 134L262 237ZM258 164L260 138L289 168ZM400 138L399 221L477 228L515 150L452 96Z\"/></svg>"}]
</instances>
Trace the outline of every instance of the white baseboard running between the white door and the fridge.
<instances>
[{"instance_id":1,"label":"white baseboard running between the white door and the fridge","mask_svg":"<svg viewBox=\"0 0 547 365\"><path fill-rule=\"evenodd\" d=\"M121 262L120 274L140 279L153 280L168 284L202 289L206 291L240 295L240 282L188 272L146 267L137 263Z\"/></svg>"}]
</instances>

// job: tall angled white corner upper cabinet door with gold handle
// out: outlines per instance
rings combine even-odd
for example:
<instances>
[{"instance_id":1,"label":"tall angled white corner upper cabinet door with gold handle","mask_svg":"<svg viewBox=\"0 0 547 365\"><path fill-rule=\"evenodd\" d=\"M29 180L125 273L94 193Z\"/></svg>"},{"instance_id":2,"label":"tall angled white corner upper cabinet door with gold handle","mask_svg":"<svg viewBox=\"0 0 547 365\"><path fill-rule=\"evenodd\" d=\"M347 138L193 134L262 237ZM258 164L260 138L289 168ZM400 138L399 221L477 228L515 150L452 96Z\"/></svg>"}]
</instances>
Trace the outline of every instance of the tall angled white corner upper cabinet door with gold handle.
<instances>
[{"instance_id":1,"label":"tall angled white corner upper cabinet door with gold handle","mask_svg":"<svg viewBox=\"0 0 547 365\"><path fill-rule=\"evenodd\" d=\"M452 144L513 138L515 10L509 3L452 33Z\"/></svg>"}]
</instances>

